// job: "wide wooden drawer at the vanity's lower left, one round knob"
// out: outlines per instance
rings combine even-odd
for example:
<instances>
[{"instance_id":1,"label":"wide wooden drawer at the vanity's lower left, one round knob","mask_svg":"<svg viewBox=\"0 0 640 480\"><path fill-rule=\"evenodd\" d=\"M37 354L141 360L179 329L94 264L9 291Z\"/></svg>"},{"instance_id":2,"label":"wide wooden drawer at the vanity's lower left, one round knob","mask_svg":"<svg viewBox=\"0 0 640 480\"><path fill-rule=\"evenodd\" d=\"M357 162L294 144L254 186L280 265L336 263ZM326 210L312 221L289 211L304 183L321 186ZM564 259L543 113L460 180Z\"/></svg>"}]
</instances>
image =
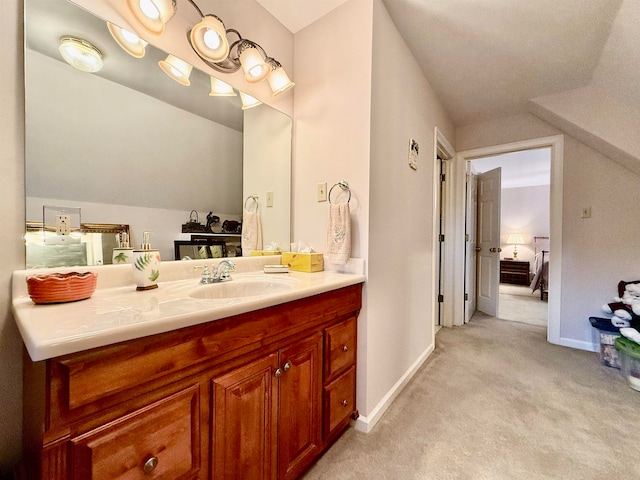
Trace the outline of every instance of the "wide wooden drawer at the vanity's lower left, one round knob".
<instances>
[{"instance_id":1,"label":"wide wooden drawer at the vanity's lower left, one round knob","mask_svg":"<svg viewBox=\"0 0 640 480\"><path fill-rule=\"evenodd\" d=\"M194 385L71 440L74 480L191 477L200 468Z\"/></svg>"}]
</instances>

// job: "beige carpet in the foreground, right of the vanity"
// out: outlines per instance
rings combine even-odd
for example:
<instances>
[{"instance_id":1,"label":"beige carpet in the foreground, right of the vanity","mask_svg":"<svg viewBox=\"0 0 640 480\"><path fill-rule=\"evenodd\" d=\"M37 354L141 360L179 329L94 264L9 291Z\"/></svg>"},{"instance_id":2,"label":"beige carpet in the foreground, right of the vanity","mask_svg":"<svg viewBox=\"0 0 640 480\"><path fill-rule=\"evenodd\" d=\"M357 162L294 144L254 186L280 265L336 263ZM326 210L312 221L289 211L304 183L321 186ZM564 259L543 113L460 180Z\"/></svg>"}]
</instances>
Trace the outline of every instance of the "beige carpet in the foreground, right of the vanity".
<instances>
[{"instance_id":1,"label":"beige carpet in the foreground, right of the vanity","mask_svg":"<svg viewBox=\"0 0 640 480\"><path fill-rule=\"evenodd\" d=\"M640 392L546 329L476 315L369 434L349 429L313 479L640 479Z\"/></svg>"}]
</instances>

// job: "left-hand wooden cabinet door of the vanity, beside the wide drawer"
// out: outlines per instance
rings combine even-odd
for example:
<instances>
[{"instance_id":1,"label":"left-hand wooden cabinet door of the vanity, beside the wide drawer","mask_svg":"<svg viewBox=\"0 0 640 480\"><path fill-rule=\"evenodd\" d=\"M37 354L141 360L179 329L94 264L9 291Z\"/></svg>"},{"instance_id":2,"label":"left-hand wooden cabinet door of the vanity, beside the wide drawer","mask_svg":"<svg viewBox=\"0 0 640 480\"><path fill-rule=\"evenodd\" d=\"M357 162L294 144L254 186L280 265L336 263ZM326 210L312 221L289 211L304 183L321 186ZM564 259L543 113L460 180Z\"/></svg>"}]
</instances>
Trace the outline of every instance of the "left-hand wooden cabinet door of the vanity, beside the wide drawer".
<instances>
[{"instance_id":1,"label":"left-hand wooden cabinet door of the vanity, beside the wide drawer","mask_svg":"<svg viewBox=\"0 0 640 480\"><path fill-rule=\"evenodd\" d=\"M278 355L212 380L213 478L276 478Z\"/></svg>"}]
</instances>

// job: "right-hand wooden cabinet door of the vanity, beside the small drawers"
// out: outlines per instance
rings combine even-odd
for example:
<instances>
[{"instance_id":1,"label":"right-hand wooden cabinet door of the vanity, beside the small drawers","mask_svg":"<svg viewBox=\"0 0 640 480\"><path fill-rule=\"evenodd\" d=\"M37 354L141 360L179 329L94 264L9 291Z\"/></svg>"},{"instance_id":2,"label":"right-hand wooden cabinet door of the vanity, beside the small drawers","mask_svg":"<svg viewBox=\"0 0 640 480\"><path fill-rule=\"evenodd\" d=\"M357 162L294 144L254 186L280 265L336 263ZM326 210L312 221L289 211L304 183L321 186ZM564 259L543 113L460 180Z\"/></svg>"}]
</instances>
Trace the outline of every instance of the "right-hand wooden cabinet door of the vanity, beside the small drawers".
<instances>
[{"instance_id":1,"label":"right-hand wooden cabinet door of the vanity, beside the small drawers","mask_svg":"<svg viewBox=\"0 0 640 480\"><path fill-rule=\"evenodd\" d=\"M280 351L278 478L293 479L321 450L322 334Z\"/></svg>"}]
</instances>

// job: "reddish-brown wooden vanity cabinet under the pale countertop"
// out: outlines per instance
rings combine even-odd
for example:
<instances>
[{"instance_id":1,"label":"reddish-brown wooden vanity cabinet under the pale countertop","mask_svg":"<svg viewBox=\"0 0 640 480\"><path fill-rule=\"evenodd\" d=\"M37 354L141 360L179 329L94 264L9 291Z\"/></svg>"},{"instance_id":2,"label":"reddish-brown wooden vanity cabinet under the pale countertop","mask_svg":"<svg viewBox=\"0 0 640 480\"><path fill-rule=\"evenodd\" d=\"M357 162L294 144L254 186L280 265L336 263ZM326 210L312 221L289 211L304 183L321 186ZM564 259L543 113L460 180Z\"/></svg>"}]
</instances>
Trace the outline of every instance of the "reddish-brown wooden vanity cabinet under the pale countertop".
<instances>
[{"instance_id":1,"label":"reddish-brown wooden vanity cabinet under the pale countertop","mask_svg":"<svg viewBox=\"0 0 640 480\"><path fill-rule=\"evenodd\" d=\"M362 285L24 366L29 479L295 479L357 416Z\"/></svg>"}]
</instances>

